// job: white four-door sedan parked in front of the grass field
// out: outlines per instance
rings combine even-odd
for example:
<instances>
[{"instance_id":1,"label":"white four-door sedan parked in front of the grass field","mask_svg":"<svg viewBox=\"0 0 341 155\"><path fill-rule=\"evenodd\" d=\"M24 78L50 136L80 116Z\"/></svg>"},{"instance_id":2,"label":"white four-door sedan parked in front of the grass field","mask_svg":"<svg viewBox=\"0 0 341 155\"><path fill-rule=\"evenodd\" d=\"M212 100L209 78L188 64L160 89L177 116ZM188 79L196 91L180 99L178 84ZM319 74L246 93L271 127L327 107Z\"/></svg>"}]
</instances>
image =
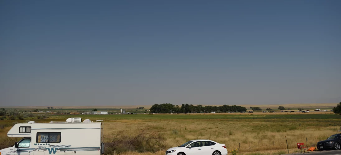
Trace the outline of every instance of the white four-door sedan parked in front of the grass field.
<instances>
[{"instance_id":1,"label":"white four-door sedan parked in front of the grass field","mask_svg":"<svg viewBox=\"0 0 341 155\"><path fill-rule=\"evenodd\" d=\"M225 144L211 140L191 140L168 149L166 155L227 155L227 149Z\"/></svg>"}]
</instances>

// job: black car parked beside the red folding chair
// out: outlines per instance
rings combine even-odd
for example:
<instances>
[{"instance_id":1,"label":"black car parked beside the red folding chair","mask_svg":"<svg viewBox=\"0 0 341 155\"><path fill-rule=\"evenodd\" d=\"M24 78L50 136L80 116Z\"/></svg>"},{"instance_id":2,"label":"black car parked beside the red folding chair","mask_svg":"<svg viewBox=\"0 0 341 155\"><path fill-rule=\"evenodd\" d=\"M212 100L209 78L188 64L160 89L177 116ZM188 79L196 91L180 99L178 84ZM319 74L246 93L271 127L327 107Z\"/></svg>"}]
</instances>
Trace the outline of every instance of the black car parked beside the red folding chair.
<instances>
[{"instance_id":1,"label":"black car parked beside the red folding chair","mask_svg":"<svg viewBox=\"0 0 341 155\"><path fill-rule=\"evenodd\" d=\"M331 135L327 140L322 140L317 142L317 149L318 150L325 150L325 149L334 149L340 150L341 144L341 134Z\"/></svg>"}]
</instances>

